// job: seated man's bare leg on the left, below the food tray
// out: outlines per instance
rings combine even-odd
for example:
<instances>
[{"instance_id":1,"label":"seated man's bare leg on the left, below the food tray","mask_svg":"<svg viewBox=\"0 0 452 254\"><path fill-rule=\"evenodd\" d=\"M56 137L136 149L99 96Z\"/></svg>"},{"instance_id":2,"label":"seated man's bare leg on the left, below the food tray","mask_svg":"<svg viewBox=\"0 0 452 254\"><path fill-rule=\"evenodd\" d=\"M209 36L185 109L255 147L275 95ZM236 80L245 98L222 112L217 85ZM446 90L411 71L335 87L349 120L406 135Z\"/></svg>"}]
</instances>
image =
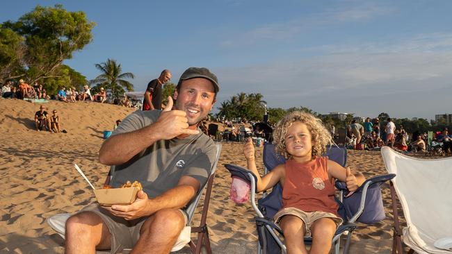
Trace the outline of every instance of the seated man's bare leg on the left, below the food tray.
<instances>
[{"instance_id":1,"label":"seated man's bare leg on the left, below the food tray","mask_svg":"<svg viewBox=\"0 0 452 254\"><path fill-rule=\"evenodd\" d=\"M95 253L111 248L111 234L94 212L81 212L66 221L66 254Z\"/></svg>"}]
</instances>

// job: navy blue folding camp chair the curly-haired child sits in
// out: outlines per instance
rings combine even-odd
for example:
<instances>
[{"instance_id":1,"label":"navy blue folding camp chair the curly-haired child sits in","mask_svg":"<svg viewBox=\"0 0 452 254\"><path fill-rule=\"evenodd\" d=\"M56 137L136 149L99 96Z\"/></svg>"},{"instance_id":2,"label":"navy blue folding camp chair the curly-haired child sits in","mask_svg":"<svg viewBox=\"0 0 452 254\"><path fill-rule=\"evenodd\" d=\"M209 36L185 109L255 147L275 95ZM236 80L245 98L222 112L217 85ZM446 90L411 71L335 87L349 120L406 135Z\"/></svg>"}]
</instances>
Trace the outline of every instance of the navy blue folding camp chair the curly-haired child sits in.
<instances>
[{"instance_id":1,"label":"navy blue folding camp chair the curly-haired child sits in","mask_svg":"<svg viewBox=\"0 0 452 254\"><path fill-rule=\"evenodd\" d=\"M330 160L334 160L341 164L341 166L344 167L346 165L347 150L344 147L331 146L328 148L326 155ZM273 144L264 145L263 160L265 173L276 167L278 164L285 162L282 156L275 153ZM232 164L225 164L225 167L232 173L232 176L239 177L250 183L251 205L257 213L257 217L255 218L259 237L257 253L286 253L286 246L281 240L281 238L284 237L284 234L280 226L272 221L275 213L282 208L282 186L280 183L273 187L270 194L264 194L264 198L259 199L258 205L256 205L255 192L257 178L254 173ZM340 204L338 212L343 217L344 224L337 228L332 239L334 253L339 253L340 237L345 232L348 232L348 235L344 253L348 253L351 235L356 228L356 221L373 223L385 218L381 196L378 199L376 195L381 195L380 185L386 180L394 178L394 176L394 174L389 174L367 179L352 196L348 197L350 198L350 202L344 199L344 196L348 194L345 184L339 182L336 183L336 187L340 191L340 196L337 199ZM342 203L343 201L344 203ZM376 206L378 206L378 208L372 208L371 205L373 205L373 203L377 203ZM366 206L371 209L366 210ZM375 213L372 213L372 210ZM311 242L311 238L305 237L305 243L310 244Z\"/></svg>"}]
</instances>

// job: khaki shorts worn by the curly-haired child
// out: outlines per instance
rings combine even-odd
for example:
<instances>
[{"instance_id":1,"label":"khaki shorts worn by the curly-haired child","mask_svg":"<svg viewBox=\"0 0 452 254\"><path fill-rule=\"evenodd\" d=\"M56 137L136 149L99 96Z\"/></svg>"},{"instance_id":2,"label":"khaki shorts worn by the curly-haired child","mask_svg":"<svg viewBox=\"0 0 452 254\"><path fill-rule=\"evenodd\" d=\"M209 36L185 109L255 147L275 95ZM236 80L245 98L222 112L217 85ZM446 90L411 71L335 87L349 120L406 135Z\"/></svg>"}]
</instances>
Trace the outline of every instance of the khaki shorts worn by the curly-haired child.
<instances>
[{"instance_id":1,"label":"khaki shorts worn by the curly-haired child","mask_svg":"<svg viewBox=\"0 0 452 254\"><path fill-rule=\"evenodd\" d=\"M336 216L336 214L332 214L331 212L305 212L297 208L282 208L279 210L274 218L275 223L280 223L280 220L285 215L293 215L300 218L305 224L305 237L311 237L311 226L314 221L322 218L331 218L334 223L336 223L336 228L339 227L343 220Z\"/></svg>"}]
</instances>

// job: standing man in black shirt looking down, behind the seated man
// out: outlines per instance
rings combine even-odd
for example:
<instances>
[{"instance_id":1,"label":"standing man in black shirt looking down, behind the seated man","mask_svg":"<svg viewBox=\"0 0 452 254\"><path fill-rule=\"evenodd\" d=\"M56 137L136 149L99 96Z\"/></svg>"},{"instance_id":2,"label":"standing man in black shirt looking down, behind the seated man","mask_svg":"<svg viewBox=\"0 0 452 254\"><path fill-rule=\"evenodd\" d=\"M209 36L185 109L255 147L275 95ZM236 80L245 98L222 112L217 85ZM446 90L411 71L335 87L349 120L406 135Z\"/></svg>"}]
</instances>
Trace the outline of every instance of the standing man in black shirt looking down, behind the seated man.
<instances>
[{"instance_id":1,"label":"standing man in black shirt looking down, behind the seated man","mask_svg":"<svg viewBox=\"0 0 452 254\"><path fill-rule=\"evenodd\" d=\"M147 84L143 110L161 110L162 85L171 79L169 69L161 71L159 78Z\"/></svg>"}]
</instances>

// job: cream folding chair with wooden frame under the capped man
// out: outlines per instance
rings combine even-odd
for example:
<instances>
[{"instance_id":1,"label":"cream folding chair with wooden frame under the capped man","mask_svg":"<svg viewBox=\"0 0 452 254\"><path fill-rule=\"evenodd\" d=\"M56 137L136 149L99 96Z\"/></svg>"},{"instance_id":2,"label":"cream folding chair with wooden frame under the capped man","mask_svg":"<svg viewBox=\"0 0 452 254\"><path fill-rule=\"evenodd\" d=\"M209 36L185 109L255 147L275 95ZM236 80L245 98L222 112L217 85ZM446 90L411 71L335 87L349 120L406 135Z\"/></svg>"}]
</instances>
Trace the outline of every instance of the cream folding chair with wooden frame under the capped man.
<instances>
[{"instance_id":1,"label":"cream folding chair with wooden frame under the capped man","mask_svg":"<svg viewBox=\"0 0 452 254\"><path fill-rule=\"evenodd\" d=\"M207 253L212 253L211 246L210 246L210 239L209 239L209 230L207 228L207 211L209 210L209 201L210 201L210 195L211 190L213 186L213 178L215 178L215 171L216 166L218 164L218 160L220 159L220 153L221 153L221 144L216 143L216 156L215 161L212 164L211 173L209 176L209 179L207 182L200 187L199 192L197 193L195 199L188 205L186 208L186 213L188 214L188 222L184 230L182 230L181 235L184 234L185 237L182 237L184 239L190 239L189 242L182 242L182 243L176 243L177 246L173 246L171 251L179 251L181 248L183 248L186 244L190 246L191 252L195 254L201 253L202 245L205 246ZM114 166L113 166L114 167ZM110 181L111 173L108 172L108 176L106 178L106 184ZM200 224L198 226L191 226L191 221L193 219L193 216L195 214L195 210L197 207L197 204L200 202L202 192L204 188L206 189L206 194L204 196L204 205L202 206L202 214L201 214L201 220ZM52 217L49 217L47 219L47 223L49 223L49 226L54 229L56 232L58 232L58 235L61 237L65 237L65 224L67 219L71 214L56 214ZM190 230L191 228L191 230ZM191 232L197 233L196 240L191 239ZM124 250L129 251L129 250ZM102 253L102 252L98 252Z\"/></svg>"}]
</instances>

